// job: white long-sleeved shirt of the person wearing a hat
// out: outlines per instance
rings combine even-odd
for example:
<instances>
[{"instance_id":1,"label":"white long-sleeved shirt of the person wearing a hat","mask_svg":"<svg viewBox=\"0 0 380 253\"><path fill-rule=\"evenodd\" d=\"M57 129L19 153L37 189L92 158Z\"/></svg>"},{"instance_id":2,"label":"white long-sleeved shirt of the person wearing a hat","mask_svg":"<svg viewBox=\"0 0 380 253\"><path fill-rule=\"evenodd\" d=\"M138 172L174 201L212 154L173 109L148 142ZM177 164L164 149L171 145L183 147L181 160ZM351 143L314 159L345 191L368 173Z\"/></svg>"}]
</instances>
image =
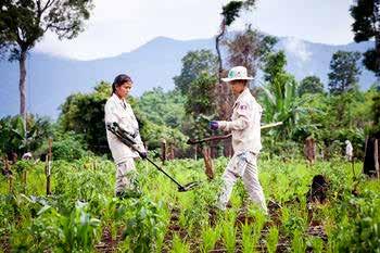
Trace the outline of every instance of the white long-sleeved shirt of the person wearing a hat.
<instances>
[{"instance_id":1,"label":"white long-sleeved shirt of the person wearing a hat","mask_svg":"<svg viewBox=\"0 0 380 253\"><path fill-rule=\"evenodd\" d=\"M220 121L221 130L232 132L232 148L236 154L253 152L258 154L262 149L261 118L263 109L245 88L233 104L230 122Z\"/></svg>"}]
</instances>

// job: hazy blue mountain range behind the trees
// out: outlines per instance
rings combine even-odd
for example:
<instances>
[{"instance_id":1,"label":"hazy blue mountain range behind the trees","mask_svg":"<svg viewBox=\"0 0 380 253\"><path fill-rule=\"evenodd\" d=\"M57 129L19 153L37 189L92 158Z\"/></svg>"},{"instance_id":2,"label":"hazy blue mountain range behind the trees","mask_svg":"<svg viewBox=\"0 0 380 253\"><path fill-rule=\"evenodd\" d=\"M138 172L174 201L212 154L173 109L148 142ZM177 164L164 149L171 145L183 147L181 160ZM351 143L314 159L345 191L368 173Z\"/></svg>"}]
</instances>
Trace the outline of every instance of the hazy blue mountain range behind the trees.
<instances>
[{"instance_id":1,"label":"hazy blue mountain range behind the trees","mask_svg":"<svg viewBox=\"0 0 380 253\"><path fill-rule=\"evenodd\" d=\"M297 79L319 76L327 84L329 62L338 50L366 51L372 42L329 46L294 38L280 38L278 49L286 50L288 71ZM142 47L118 56L93 61L76 61L31 52L27 61L27 109L39 115L56 117L59 106L74 92L87 92L101 80L112 83L115 75L128 73L134 79L134 96L153 87L174 88L173 77L181 68L181 59L190 50L212 49L214 39L174 40L159 37ZM375 76L363 69L362 89L367 89ZM18 65L0 62L0 116L20 110Z\"/></svg>"}]
</instances>

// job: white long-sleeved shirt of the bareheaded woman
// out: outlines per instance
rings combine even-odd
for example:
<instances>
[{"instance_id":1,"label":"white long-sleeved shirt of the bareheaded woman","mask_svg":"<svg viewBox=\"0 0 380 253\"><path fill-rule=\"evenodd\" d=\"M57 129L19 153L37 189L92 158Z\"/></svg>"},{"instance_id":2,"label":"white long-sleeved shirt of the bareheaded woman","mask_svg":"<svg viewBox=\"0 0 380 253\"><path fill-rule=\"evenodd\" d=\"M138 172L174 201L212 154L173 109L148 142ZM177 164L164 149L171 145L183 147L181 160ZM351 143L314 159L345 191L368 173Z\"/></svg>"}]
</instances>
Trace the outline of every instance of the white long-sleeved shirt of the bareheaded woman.
<instances>
[{"instance_id":1,"label":"white long-sleeved shirt of the bareheaded woman","mask_svg":"<svg viewBox=\"0 0 380 253\"><path fill-rule=\"evenodd\" d=\"M116 122L124 130L136 135L136 142L138 149L144 151L139 132L139 124L129 103L124 99L119 99L115 93L106 101L104 105L104 122L105 126ZM105 127L106 129L106 127ZM130 157L138 157L139 155L129 147L124 144L114 134L106 129L106 139L109 147L116 164L121 164Z\"/></svg>"}]
</instances>

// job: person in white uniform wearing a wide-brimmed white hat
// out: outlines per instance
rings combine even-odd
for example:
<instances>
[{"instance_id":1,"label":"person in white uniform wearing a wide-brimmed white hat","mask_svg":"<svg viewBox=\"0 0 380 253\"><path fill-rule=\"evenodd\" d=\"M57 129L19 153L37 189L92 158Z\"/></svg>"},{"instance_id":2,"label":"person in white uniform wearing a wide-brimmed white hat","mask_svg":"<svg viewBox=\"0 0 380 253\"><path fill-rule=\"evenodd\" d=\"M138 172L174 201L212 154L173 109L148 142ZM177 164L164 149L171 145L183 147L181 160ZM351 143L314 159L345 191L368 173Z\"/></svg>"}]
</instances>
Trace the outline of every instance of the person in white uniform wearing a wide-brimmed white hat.
<instances>
[{"instance_id":1,"label":"person in white uniform wearing a wide-brimmed white hat","mask_svg":"<svg viewBox=\"0 0 380 253\"><path fill-rule=\"evenodd\" d=\"M257 155L262 149L261 117L263 109L250 92L248 87L250 79L253 78L248 76L246 68L243 66L236 66L229 71L228 77L223 78L223 80L228 81L232 92L238 96L233 104L231 121L210 123L213 130L221 129L232 132L235 152L223 175L224 188L219 195L218 207L226 208L233 185L238 178L242 178L251 200L267 213L257 172Z\"/></svg>"}]
</instances>

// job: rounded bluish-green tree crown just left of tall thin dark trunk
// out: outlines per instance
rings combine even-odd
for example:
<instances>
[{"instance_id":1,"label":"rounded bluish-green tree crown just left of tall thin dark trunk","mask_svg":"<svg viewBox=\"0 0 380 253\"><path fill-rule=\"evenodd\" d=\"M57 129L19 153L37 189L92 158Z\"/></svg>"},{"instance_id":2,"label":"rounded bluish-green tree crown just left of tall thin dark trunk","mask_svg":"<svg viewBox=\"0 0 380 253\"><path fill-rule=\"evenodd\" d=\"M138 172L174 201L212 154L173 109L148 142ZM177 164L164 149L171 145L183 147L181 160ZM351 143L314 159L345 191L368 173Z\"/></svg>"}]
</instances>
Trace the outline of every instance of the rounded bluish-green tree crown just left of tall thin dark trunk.
<instances>
[{"instance_id":1,"label":"rounded bluish-green tree crown just left of tall thin dark trunk","mask_svg":"<svg viewBox=\"0 0 380 253\"><path fill-rule=\"evenodd\" d=\"M216 56L211 50L195 50L188 52L182 58L182 68L179 76L174 77L176 89L182 94L187 94L190 84L202 73L211 75L216 73Z\"/></svg>"}]
</instances>

